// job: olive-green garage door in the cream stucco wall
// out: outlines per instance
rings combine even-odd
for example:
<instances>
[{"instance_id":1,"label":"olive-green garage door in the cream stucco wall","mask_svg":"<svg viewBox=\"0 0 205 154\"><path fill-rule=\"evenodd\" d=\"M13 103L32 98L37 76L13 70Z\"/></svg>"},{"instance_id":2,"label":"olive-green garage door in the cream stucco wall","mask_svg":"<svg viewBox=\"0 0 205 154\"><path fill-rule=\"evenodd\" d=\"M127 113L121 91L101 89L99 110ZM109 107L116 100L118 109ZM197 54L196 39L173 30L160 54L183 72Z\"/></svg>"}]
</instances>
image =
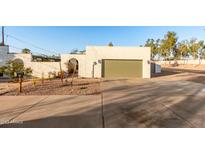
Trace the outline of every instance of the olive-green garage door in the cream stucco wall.
<instances>
[{"instance_id":1,"label":"olive-green garage door in the cream stucco wall","mask_svg":"<svg viewBox=\"0 0 205 154\"><path fill-rule=\"evenodd\" d=\"M142 77L142 60L104 59L102 77L136 78Z\"/></svg>"}]
</instances>

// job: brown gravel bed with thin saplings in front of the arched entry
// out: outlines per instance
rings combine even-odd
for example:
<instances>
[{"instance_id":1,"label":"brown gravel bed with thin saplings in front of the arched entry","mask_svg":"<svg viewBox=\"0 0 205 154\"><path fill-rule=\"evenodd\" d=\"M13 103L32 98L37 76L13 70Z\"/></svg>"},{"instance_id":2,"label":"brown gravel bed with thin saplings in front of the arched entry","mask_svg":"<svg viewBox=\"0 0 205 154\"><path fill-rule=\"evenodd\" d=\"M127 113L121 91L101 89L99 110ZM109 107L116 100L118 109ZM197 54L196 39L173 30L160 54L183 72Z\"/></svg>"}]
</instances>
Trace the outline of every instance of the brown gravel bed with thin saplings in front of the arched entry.
<instances>
[{"instance_id":1,"label":"brown gravel bed with thin saplings in front of the arched entry","mask_svg":"<svg viewBox=\"0 0 205 154\"><path fill-rule=\"evenodd\" d=\"M17 85L18 83L16 83L16 87L18 87ZM16 87L3 95L95 95L100 92L98 79L74 79L73 86L71 80L64 81L63 84L59 79L45 80L43 84L40 81L36 82L35 86L30 82L26 85L23 84L22 93L19 93Z\"/></svg>"}]
</instances>

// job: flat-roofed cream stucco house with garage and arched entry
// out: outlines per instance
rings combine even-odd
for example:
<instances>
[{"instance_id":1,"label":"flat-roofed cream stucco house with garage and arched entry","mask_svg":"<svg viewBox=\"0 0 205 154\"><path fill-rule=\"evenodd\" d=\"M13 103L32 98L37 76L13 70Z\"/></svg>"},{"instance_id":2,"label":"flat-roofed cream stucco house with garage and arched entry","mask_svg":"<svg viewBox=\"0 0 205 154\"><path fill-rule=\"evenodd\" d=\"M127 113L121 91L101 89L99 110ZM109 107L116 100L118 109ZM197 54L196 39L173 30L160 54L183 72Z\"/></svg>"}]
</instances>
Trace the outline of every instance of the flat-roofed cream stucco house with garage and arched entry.
<instances>
[{"instance_id":1,"label":"flat-roofed cream stucco house with garage and arched entry","mask_svg":"<svg viewBox=\"0 0 205 154\"><path fill-rule=\"evenodd\" d=\"M150 78L149 47L87 46L83 54L61 54L61 63L78 62L78 76L86 78Z\"/></svg>"}]
</instances>

